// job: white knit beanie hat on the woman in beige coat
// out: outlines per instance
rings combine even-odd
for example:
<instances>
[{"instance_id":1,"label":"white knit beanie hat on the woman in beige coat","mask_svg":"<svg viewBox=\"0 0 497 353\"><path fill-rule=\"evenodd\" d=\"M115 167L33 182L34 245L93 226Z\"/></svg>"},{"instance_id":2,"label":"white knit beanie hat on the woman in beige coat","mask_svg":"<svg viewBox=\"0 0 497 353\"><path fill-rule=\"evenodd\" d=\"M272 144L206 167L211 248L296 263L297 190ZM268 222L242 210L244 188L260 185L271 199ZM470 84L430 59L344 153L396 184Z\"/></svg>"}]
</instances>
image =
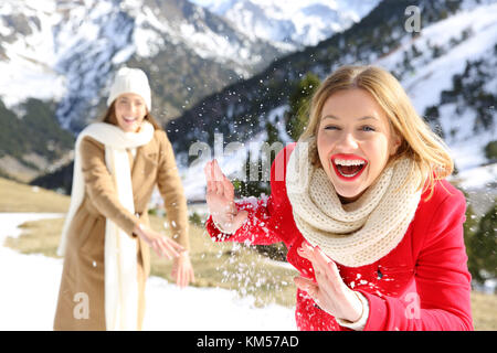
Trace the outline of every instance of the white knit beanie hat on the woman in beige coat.
<instances>
[{"instance_id":1,"label":"white knit beanie hat on the woman in beige coat","mask_svg":"<svg viewBox=\"0 0 497 353\"><path fill-rule=\"evenodd\" d=\"M107 107L114 99L125 93L134 93L144 98L148 111L151 110L151 94L147 75L139 68L121 67L110 86L110 94L107 98Z\"/></svg>"}]
</instances>

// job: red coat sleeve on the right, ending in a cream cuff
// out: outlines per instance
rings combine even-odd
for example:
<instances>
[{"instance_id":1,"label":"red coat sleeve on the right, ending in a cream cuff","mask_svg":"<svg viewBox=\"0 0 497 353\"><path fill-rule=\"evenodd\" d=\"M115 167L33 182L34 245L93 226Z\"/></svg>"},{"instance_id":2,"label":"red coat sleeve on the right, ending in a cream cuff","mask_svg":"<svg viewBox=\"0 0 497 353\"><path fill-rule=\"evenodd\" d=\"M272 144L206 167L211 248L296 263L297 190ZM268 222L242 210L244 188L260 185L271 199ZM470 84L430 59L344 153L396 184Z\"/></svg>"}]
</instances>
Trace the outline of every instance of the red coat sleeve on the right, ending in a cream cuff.
<instances>
[{"instance_id":1,"label":"red coat sleeve on the right, ending in a cream cuff","mask_svg":"<svg viewBox=\"0 0 497 353\"><path fill-rule=\"evenodd\" d=\"M400 299L360 290L370 306L364 330L474 330L463 233L465 210L464 195L456 190L434 213L416 260L417 292Z\"/></svg>"}]
</instances>

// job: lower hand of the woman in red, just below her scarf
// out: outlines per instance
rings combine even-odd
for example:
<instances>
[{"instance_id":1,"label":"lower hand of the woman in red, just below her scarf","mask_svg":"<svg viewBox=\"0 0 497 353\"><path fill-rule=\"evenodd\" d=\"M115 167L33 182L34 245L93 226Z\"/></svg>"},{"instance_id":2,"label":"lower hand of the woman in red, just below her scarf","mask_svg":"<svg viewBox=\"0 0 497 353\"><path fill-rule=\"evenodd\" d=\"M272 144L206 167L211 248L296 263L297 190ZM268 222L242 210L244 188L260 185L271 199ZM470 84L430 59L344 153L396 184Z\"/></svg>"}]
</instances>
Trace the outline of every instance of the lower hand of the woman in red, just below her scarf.
<instances>
[{"instance_id":1,"label":"lower hand of the woman in red, just below her scarf","mask_svg":"<svg viewBox=\"0 0 497 353\"><path fill-rule=\"evenodd\" d=\"M340 277L337 265L319 249L304 242L298 255L313 264L316 282L295 277L298 288L309 293L313 300L335 318L356 322L362 314L362 302Z\"/></svg>"}]
</instances>

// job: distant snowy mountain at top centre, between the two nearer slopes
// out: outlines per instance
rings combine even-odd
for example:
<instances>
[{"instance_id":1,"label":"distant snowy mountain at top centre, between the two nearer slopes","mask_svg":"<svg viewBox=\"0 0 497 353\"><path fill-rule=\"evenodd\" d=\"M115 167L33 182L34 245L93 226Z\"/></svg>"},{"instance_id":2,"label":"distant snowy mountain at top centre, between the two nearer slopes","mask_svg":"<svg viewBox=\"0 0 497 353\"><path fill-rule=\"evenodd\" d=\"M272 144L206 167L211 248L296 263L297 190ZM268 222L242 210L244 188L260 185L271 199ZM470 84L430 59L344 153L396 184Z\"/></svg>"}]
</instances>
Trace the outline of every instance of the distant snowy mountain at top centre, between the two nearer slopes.
<instances>
[{"instance_id":1,"label":"distant snowy mountain at top centre, between the two nearer slopes","mask_svg":"<svg viewBox=\"0 0 497 353\"><path fill-rule=\"evenodd\" d=\"M380 0L192 0L230 20L251 39L279 47L316 45L367 15Z\"/></svg>"}]
</instances>

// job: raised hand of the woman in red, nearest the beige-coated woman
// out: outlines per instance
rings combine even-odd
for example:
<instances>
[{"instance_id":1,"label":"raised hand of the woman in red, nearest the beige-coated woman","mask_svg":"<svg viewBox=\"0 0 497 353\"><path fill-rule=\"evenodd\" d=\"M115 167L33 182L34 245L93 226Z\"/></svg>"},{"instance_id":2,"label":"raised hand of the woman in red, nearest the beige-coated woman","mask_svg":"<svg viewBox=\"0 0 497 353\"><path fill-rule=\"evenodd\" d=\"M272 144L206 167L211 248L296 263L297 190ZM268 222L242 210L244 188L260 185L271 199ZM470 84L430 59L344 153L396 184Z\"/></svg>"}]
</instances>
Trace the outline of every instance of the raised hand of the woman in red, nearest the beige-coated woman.
<instances>
[{"instance_id":1,"label":"raised hand of the woman in red, nearest the beige-coated woman","mask_svg":"<svg viewBox=\"0 0 497 353\"><path fill-rule=\"evenodd\" d=\"M245 222L248 212L237 212L234 203L234 188L223 174L218 161L208 162L203 169L207 179L205 200L212 221L224 233L234 233Z\"/></svg>"}]
</instances>

